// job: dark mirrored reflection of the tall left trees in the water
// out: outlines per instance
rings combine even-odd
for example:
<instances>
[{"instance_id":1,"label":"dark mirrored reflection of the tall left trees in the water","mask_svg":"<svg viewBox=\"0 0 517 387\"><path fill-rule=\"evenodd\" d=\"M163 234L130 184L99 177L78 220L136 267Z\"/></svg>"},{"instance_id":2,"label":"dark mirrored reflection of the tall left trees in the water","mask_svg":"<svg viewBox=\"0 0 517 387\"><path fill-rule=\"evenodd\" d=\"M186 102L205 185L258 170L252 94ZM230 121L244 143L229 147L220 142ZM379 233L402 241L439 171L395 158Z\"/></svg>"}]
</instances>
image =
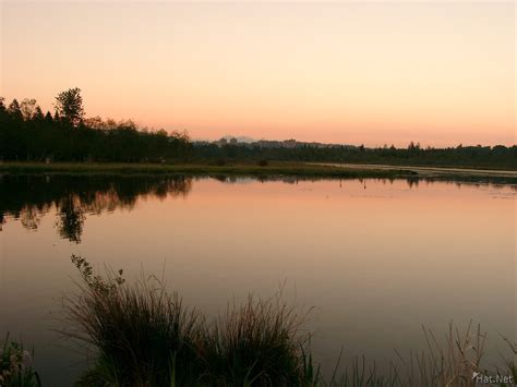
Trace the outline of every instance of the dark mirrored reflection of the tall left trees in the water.
<instances>
[{"instance_id":1,"label":"dark mirrored reflection of the tall left trees in the water","mask_svg":"<svg viewBox=\"0 0 517 387\"><path fill-rule=\"evenodd\" d=\"M59 234L79 243L87 214L132 209L144 196L187 196L192 178L0 177L0 227L5 218L20 219L36 230L56 208Z\"/></svg>"}]
</instances>

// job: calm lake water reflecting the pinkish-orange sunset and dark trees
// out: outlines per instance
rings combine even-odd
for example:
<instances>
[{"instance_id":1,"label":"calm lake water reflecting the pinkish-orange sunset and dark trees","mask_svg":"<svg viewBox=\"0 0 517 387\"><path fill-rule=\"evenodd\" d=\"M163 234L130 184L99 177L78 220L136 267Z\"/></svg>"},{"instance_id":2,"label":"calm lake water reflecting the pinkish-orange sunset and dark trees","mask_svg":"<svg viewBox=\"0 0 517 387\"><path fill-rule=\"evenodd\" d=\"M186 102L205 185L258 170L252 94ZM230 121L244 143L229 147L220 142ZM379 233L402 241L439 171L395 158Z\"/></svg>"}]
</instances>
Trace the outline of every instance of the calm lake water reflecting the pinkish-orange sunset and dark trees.
<instances>
[{"instance_id":1,"label":"calm lake water reflecting the pinkish-orange sunset and dark trees","mask_svg":"<svg viewBox=\"0 0 517 387\"><path fill-rule=\"evenodd\" d=\"M74 290L71 254L164 274L209 316L250 292L315 306L314 353L333 367L421 349L421 325L516 337L516 186L418 180L0 179L0 335L34 347L45 386L84 350L55 329Z\"/></svg>"}]
</instances>

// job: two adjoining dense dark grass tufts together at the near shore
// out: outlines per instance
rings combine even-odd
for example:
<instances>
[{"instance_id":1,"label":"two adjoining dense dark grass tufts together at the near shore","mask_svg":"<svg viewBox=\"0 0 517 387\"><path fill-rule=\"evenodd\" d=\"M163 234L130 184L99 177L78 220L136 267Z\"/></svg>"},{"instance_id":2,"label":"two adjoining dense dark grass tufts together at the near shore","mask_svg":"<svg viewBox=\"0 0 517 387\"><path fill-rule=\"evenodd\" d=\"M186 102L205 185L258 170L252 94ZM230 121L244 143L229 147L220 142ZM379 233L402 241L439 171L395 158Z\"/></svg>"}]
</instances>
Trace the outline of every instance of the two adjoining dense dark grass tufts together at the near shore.
<instances>
[{"instance_id":1,"label":"two adjoining dense dark grass tufts together at the near shore","mask_svg":"<svg viewBox=\"0 0 517 387\"><path fill-rule=\"evenodd\" d=\"M278 294L232 305L214 324L156 277L128 286L122 270L94 275L72 255L79 292L65 303L69 337L93 344L97 362L80 386L292 386L314 378L305 315Z\"/></svg>"}]
</instances>

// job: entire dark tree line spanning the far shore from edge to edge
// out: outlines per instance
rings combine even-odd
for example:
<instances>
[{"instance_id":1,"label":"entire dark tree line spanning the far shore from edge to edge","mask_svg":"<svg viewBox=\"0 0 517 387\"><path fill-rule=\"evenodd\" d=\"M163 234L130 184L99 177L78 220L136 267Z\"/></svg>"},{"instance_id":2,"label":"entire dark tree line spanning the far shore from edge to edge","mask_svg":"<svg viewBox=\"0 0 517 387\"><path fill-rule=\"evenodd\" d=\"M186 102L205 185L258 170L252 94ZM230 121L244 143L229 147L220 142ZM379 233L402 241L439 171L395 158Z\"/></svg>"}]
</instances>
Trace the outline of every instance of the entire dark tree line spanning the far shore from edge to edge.
<instances>
[{"instance_id":1,"label":"entire dark tree line spanning the far shore from edge to edge","mask_svg":"<svg viewBox=\"0 0 517 387\"><path fill-rule=\"evenodd\" d=\"M517 147L462 146L406 148L384 146L265 147L255 144L195 144L187 132L139 128L131 120L85 118L80 88L56 96L55 112L35 99L0 97L0 160L120 162L260 162L267 160L458 166L517 169Z\"/></svg>"}]
</instances>

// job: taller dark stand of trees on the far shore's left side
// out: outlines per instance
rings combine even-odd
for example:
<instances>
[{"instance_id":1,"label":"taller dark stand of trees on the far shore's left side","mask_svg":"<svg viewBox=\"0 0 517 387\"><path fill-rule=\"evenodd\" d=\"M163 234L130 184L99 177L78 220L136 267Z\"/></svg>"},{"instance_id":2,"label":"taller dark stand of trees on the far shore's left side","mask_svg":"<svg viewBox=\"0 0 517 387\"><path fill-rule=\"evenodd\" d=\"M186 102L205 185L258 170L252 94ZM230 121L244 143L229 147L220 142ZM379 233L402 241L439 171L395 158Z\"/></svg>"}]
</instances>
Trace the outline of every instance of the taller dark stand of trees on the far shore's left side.
<instances>
[{"instance_id":1,"label":"taller dark stand of trees on the far shore's left side","mask_svg":"<svg viewBox=\"0 0 517 387\"><path fill-rule=\"evenodd\" d=\"M35 99L0 97L0 159L25 161L159 162L192 153L187 133L139 128L131 120L85 118L80 88L59 93L53 114Z\"/></svg>"}]
</instances>

